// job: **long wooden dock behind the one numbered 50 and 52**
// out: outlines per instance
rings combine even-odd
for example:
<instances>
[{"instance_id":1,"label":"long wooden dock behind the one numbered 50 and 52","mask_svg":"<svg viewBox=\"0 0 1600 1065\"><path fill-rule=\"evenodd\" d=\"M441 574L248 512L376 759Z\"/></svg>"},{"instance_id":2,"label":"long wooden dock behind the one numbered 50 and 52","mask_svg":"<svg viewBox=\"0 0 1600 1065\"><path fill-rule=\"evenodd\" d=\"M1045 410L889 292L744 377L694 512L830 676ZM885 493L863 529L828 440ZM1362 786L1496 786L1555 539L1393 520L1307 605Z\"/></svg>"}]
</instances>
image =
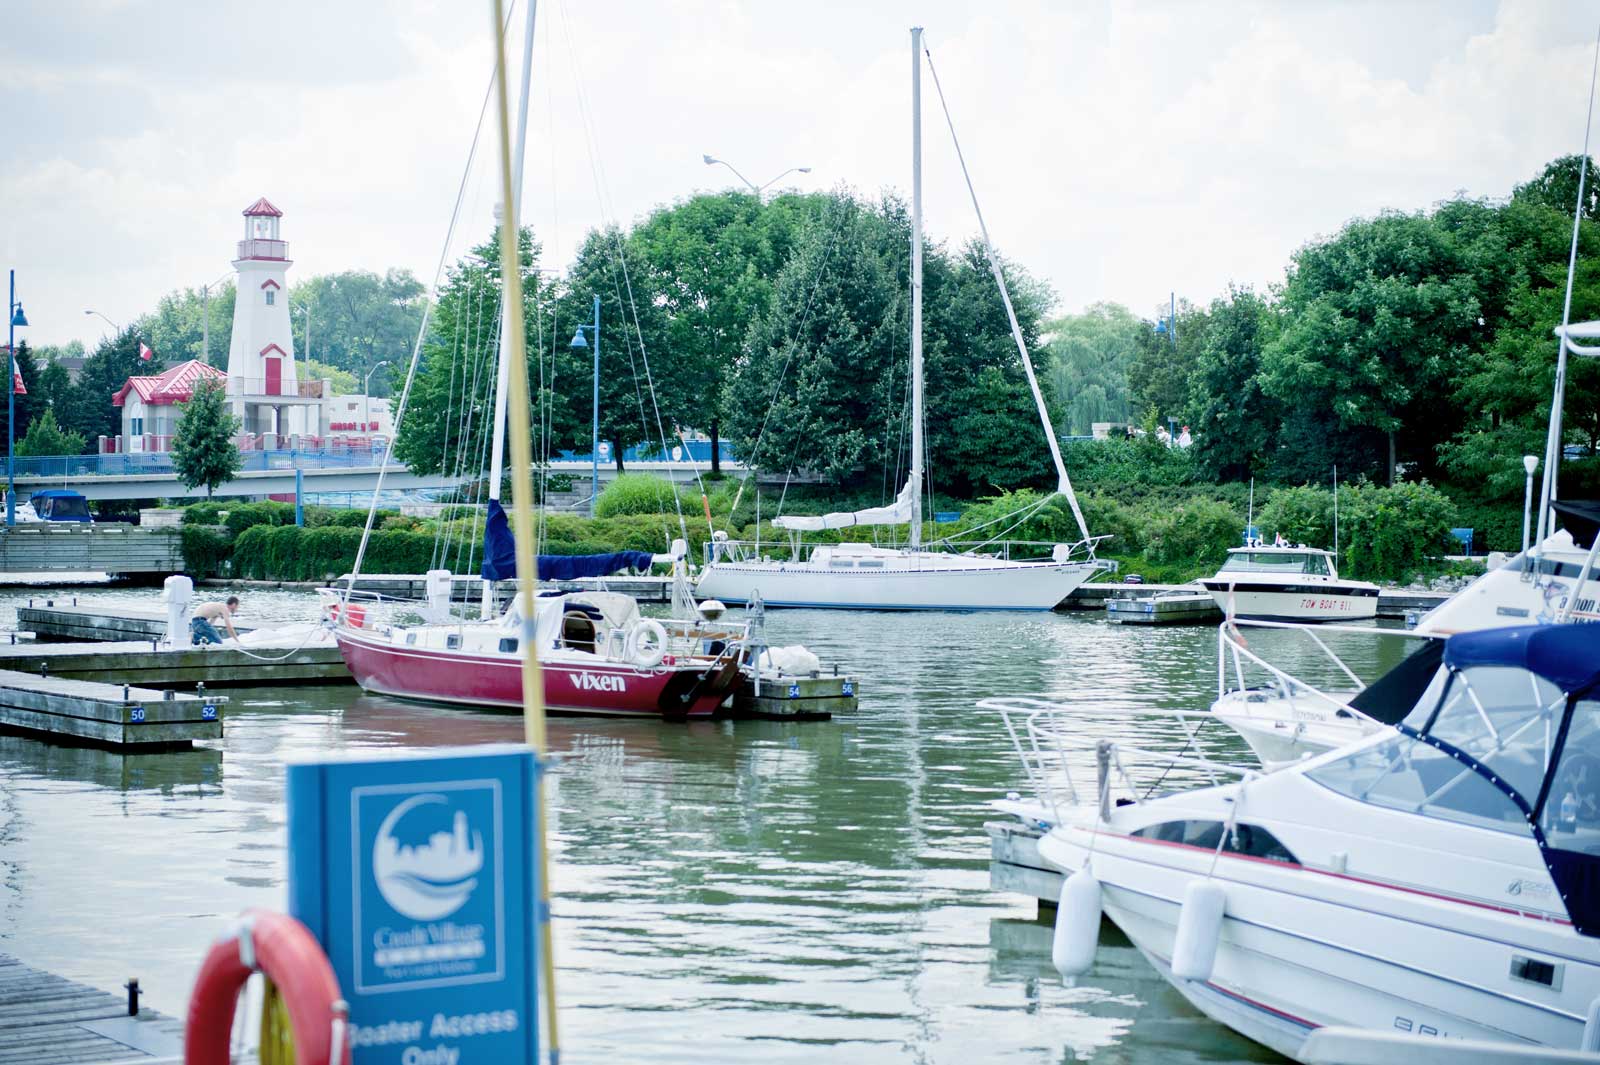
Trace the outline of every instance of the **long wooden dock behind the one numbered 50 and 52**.
<instances>
[{"instance_id":1,"label":"long wooden dock behind the one numbered 50 and 52","mask_svg":"<svg viewBox=\"0 0 1600 1065\"><path fill-rule=\"evenodd\" d=\"M158 640L0 644L0 670L166 689L355 683L334 646L171 648Z\"/></svg>"}]
</instances>

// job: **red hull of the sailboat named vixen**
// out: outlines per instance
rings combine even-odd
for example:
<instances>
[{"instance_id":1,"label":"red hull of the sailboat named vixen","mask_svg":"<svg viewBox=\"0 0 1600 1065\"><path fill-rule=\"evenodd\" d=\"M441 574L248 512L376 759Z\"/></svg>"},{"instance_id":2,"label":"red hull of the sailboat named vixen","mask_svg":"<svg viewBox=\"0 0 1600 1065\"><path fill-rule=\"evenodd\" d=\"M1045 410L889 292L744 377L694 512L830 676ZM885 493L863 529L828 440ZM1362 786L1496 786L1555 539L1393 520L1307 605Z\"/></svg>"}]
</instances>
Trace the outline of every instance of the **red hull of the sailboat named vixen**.
<instances>
[{"instance_id":1,"label":"red hull of the sailboat named vixen","mask_svg":"<svg viewBox=\"0 0 1600 1065\"><path fill-rule=\"evenodd\" d=\"M352 630L338 630L339 654L362 691L461 707L522 708L522 660L402 648ZM642 668L621 662L541 662L544 700L552 713L606 716L710 716L738 683L728 662L707 676L706 664Z\"/></svg>"}]
</instances>

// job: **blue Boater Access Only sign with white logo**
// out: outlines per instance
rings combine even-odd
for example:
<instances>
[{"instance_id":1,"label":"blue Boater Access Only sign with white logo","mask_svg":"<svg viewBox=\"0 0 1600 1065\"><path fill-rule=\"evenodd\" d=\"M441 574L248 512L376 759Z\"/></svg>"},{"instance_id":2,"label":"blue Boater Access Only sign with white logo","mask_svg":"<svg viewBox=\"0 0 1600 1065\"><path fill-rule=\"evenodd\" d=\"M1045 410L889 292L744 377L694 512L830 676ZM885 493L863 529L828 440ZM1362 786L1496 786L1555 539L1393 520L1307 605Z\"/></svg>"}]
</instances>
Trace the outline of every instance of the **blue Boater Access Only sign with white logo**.
<instances>
[{"instance_id":1,"label":"blue Boater Access Only sign with white logo","mask_svg":"<svg viewBox=\"0 0 1600 1065\"><path fill-rule=\"evenodd\" d=\"M538 772L525 747L290 766L290 913L350 1003L352 1065L536 1060Z\"/></svg>"}]
</instances>

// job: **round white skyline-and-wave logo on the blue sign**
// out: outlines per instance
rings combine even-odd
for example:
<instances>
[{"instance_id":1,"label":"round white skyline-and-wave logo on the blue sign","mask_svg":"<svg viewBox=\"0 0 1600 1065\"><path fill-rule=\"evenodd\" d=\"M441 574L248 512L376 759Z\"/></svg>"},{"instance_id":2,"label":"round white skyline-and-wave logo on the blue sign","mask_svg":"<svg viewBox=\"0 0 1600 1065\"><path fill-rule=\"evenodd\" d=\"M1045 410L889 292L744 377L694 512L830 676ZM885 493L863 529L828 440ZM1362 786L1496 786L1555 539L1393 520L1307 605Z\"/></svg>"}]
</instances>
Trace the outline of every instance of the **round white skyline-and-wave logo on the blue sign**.
<instances>
[{"instance_id":1,"label":"round white skyline-and-wave logo on the blue sign","mask_svg":"<svg viewBox=\"0 0 1600 1065\"><path fill-rule=\"evenodd\" d=\"M450 819L450 832L434 832L424 843L402 844L395 836L403 832L406 816L424 811L418 819L432 814L435 806L450 806L450 800L437 792L413 795L384 817L373 841L373 880L378 892L397 913L413 921L437 921L459 910L478 886L483 868L483 835L474 832L467 812L456 809Z\"/></svg>"}]
</instances>

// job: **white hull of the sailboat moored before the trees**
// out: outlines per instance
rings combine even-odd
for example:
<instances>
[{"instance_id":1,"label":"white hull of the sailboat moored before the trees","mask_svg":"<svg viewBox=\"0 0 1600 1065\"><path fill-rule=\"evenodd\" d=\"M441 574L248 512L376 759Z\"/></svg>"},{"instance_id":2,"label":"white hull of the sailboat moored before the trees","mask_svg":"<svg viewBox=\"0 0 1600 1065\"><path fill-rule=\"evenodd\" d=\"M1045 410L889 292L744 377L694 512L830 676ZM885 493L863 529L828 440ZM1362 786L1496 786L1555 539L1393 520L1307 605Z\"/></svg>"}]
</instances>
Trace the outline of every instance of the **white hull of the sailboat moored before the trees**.
<instances>
[{"instance_id":1,"label":"white hull of the sailboat moored before the trees","mask_svg":"<svg viewBox=\"0 0 1600 1065\"><path fill-rule=\"evenodd\" d=\"M725 603L858 611L1048 611L1098 569L1093 563L907 564L826 569L806 563L709 564L696 593Z\"/></svg>"}]
</instances>

